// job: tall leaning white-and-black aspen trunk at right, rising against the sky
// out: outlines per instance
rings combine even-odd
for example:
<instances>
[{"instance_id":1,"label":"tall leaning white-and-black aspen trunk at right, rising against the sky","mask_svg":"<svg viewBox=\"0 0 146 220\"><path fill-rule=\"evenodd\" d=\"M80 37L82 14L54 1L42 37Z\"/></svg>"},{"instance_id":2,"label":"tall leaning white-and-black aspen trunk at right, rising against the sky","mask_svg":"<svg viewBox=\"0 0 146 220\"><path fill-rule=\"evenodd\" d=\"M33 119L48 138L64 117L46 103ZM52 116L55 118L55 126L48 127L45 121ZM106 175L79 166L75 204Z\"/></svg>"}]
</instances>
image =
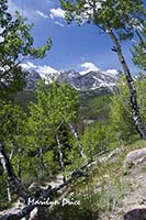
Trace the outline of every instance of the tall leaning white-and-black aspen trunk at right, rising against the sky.
<instances>
[{"instance_id":1,"label":"tall leaning white-and-black aspen trunk at right, rising against the sky","mask_svg":"<svg viewBox=\"0 0 146 220\"><path fill-rule=\"evenodd\" d=\"M136 130L138 131L141 138L143 140L146 140L146 129L145 125L143 123L143 120L141 118L141 113L139 113L139 108L138 108L138 103L137 103L137 94L136 94L136 88L134 85L134 80L132 78L130 68L125 62L125 58L123 56L122 50L121 50L121 45L119 43L119 40L116 37L116 35L113 33L112 29L110 29L109 26L106 26L106 31L108 34L111 36L113 43L114 43L114 51L116 52L120 63L122 64L126 80L127 80L127 85L128 85L128 89L130 89L130 96L131 96L131 107L132 107L132 114L133 114L133 120L136 127Z\"/></svg>"}]
</instances>

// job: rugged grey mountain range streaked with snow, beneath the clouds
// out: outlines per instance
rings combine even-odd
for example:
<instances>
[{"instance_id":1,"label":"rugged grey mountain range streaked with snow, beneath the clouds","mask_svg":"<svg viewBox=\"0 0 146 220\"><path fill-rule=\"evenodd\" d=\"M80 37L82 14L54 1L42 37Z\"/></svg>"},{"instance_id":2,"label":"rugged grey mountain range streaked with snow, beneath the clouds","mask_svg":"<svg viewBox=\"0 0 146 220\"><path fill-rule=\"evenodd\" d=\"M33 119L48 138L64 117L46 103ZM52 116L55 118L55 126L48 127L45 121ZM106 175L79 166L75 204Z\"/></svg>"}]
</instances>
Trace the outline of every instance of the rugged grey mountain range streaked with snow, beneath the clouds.
<instances>
[{"instance_id":1,"label":"rugged grey mountain range streaked with snow, beneath the clouds","mask_svg":"<svg viewBox=\"0 0 146 220\"><path fill-rule=\"evenodd\" d=\"M54 79L58 81L67 81L74 88L79 91L92 91L92 90L106 90L113 91L117 80L117 74L113 70L102 72L102 70L91 70L83 75L76 70L64 70L56 73L38 73L30 72L27 76L27 86L26 89L34 89L37 81L44 78L49 82Z\"/></svg>"}]
</instances>

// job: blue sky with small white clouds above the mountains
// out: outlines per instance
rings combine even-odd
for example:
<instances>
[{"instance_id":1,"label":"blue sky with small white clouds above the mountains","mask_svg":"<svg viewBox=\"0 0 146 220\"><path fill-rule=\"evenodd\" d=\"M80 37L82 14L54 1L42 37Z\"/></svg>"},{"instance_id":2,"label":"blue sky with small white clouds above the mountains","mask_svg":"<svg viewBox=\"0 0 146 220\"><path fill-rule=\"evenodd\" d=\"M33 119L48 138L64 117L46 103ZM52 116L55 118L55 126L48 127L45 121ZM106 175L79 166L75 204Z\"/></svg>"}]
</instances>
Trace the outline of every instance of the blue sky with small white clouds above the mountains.
<instances>
[{"instance_id":1,"label":"blue sky with small white clouds above the mountains","mask_svg":"<svg viewBox=\"0 0 146 220\"><path fill-rule=\"evenodd\" d=\"M102 34L91 24L68 25L59 0L9 0L10 11L18 10L34 23L32 35L35 46L52 37L53 46L44 59L25 62L25 67L49 69L122 69L116 54L111 51L113 44L106 34ZM134 74L137 69L131 61L131 43L123 44L123 52Z\"/></svg>"}]
</instances>

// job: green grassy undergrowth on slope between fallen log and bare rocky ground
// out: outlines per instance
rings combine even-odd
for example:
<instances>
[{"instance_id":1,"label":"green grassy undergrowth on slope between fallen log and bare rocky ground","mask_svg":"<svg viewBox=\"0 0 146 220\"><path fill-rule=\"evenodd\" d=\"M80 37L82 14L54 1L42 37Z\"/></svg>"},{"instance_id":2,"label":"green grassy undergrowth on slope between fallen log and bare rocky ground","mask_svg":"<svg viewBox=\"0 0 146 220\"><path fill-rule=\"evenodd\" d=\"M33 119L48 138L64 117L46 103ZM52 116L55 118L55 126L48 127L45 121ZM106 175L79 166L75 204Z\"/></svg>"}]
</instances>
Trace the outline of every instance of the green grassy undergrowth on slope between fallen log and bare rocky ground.
<instances>
[{"instance_id":1,"label":"green grassy undergrowth on slope between fallen log and bare rocky ground","mask_svg":"<svg viewBox=\"0 0 146 220\"><path fill-rule=\"evenodd\" d=\"M67 202L54 206L50 220L105 220L122 207L122 200L133 190L132 183L124 178L127 170L123 162L128 152L146 147L145 141L123 146L119 153L109 156L89 168L89 177L79 179L67 196ZM108 155L105 155L108 157ZM72 201L72 205L69 204ZM79 201L79 205L76 205ZM114 219L114 218L113 218Z\"/></svg>"}]
</instances>

